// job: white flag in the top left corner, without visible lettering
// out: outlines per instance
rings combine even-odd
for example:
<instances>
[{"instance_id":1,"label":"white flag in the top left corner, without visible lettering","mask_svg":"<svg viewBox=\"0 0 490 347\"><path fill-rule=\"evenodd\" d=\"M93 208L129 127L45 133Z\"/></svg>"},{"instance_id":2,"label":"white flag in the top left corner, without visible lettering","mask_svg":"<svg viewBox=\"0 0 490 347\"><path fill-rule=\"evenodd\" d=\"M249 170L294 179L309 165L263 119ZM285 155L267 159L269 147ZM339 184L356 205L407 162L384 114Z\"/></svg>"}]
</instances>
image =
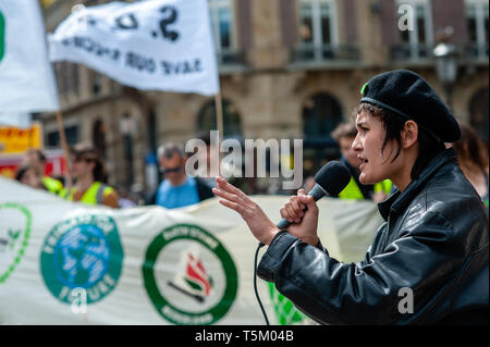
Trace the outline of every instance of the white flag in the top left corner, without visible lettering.
<instances>
[{"instance_id":1,"label":"white flag in the top left corner, without visible lettering","mask_svg":"<svg viewBox=\"0 0 490 347\"><path fill-rule=\"evenodd\" d=\"M0 112L59 109L37 0L0 1Z\"/></svg>"}]
</instances>

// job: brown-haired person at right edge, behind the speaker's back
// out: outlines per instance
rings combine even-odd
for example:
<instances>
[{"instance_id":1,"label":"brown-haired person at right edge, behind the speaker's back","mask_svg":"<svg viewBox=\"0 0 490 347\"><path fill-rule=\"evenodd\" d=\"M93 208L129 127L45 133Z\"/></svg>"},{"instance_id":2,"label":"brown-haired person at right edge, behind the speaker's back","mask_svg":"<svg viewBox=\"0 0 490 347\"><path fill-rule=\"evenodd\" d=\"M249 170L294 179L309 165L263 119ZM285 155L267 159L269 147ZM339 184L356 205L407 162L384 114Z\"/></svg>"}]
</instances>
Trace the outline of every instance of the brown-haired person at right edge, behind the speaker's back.
<instances>
[{"instance_id":1,"label":"brown-haired person at right edge, behind the speaker's back","mask_svg":"<svg viewBox=\"0 0 490 347\"><path fill-rule=\"evenodd\" d=\"M469 125L460 124L460 127L461 139L453 144L460 168L488 208L488 150Z\"/></svg>"}]
</instances>

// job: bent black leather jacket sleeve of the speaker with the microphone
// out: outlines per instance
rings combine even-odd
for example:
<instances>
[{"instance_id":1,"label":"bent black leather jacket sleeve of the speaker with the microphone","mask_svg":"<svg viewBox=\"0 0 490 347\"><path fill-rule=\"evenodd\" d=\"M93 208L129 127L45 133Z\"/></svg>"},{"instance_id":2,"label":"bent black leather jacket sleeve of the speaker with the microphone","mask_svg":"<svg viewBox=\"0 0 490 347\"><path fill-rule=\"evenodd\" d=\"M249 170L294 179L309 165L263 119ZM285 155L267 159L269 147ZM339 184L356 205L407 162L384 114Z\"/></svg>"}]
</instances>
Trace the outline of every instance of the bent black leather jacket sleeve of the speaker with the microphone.
<instances>
[{"instance_id":1,"label":"bent black leather jacket sleeve of the speaker with the microphone","mask_svg":"<svg viewBox=\"0 0 490 347\"><path fill-rule=\"evenodd\" d=\"M453 227L442 214L428 212L421 219L357 264L339 262L283 233L269 246L257 274L324 324L417 322L456 281L465 258L457 255L463 246L454 245ZM400 312L403 287L412 289L413 313Z\"/></svg>"}]
</instances>

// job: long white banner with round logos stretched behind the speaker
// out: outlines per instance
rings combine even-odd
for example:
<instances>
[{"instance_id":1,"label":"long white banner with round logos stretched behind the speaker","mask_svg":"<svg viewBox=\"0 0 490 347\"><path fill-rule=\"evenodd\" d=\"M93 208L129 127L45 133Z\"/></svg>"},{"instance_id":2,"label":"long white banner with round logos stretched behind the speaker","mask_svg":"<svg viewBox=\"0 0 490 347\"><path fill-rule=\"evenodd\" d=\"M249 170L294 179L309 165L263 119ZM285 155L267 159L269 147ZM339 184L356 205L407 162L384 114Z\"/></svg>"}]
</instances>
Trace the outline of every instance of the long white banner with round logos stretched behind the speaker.
<instances>
[{"instance_id":1,"label":"long white banner with round logos stretched behind the speaker","mask_svg":"<svg viewBox=\"0 0 490 347\"><path fill-rule=\"evenodd\" d=\"M275 221L287 197L253 199ZM376 206L318 205L329 253L360 260L381 223ZM218 199L91 208L0 177L0 324L264 324L257 244ZM258 289L272 324L311 323L268 283Z\"/></svg>"}]
</instances>

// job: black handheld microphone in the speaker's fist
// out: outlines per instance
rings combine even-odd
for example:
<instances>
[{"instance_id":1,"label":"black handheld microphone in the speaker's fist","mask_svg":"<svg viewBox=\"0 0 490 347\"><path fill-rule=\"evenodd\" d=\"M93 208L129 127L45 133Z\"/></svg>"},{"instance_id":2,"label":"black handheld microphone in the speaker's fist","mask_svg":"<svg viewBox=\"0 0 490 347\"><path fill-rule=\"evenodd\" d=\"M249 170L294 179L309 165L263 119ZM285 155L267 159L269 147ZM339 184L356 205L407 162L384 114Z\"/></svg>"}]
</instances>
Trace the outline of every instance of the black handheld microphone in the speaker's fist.
<instances>
[{"instance_id":1,"label":"black handheld microphone in the speaker's fist","mask_svg":"<svg viewBox=\"0 0 490 347\"><path fill-rule=\"evenodd\" d=\"M338 196L344 190L345 186L351 181L351 173L348 169L340 161L329 161L315 175L315 187L308 191L308 195L318 201L324 196ZM304 209L306 211L306 208ZM292 223L287 222L285 218L275 224L280 230L286 228Z\"/></svg>"}]
</instances>

